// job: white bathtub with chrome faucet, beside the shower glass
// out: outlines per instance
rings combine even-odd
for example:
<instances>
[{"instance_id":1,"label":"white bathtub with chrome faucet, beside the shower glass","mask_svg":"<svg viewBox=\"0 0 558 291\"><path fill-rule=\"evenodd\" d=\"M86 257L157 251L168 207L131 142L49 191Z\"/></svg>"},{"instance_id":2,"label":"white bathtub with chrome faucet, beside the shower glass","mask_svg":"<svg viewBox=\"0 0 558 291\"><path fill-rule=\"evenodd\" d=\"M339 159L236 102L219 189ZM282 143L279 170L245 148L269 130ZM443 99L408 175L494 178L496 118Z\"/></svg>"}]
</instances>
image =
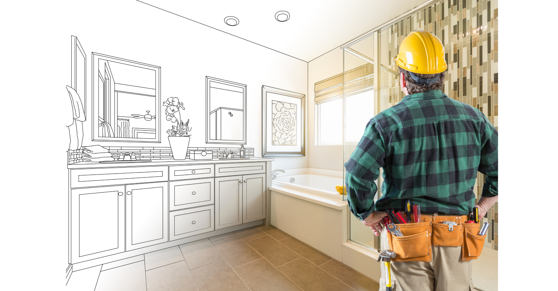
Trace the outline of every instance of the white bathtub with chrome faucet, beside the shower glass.
<instances>
[{"instance_id":1,"label":"white bathtub with chrome faucet, beside the shower glass","mask_svg":"<svg viewBox=\"0 0 558 291\"><path fill-rule=\"evenodd\" d=\"M291 179L294 179L294 182L290 182ZM304 174L277 177L272 180L272 183L332 199L343 200L343 195L340 195L335 190L335 185L343 184L343 178Z\"/></svg>"}]
</instances>

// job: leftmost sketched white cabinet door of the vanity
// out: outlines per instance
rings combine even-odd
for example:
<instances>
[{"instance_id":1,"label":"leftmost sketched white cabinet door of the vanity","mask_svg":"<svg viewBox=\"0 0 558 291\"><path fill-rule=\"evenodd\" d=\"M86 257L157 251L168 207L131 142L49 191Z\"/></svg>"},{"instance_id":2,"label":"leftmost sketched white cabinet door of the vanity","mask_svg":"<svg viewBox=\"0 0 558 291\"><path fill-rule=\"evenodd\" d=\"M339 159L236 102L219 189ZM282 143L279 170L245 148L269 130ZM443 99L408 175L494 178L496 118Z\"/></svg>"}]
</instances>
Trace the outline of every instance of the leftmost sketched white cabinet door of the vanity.
<instances>
[{"instance_id":1,"label":"leftmost sketched white cabinet door of the vanity","mask_svg":"<svg viewBox=\"0 0 558 291\"><path fill-rule=\"evenodd\" d=\"M71 263L124 251L124 186L71 189Z\"/></svg>"}]
</instances>

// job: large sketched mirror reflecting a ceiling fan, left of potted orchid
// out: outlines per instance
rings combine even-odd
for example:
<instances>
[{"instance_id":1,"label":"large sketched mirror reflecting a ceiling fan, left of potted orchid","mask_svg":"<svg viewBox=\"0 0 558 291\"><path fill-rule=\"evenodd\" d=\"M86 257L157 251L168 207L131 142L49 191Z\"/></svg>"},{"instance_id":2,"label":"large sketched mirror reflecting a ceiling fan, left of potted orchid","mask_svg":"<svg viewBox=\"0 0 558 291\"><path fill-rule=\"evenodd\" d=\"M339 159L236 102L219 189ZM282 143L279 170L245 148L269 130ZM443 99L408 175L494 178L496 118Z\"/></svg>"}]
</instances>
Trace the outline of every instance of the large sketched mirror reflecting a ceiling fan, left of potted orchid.
<instances>
[{"instance_id":1,"label":"large sketched mirror reflecting a ceiling fan, left of potted orchid","mask_svg":"<svg viewBox=\"0 0 558 291\"><path fill-rule=\"evenodd\" d=\"M93 53L93 140L161 141L161 68Z\"/></svg>"}]
</instances>

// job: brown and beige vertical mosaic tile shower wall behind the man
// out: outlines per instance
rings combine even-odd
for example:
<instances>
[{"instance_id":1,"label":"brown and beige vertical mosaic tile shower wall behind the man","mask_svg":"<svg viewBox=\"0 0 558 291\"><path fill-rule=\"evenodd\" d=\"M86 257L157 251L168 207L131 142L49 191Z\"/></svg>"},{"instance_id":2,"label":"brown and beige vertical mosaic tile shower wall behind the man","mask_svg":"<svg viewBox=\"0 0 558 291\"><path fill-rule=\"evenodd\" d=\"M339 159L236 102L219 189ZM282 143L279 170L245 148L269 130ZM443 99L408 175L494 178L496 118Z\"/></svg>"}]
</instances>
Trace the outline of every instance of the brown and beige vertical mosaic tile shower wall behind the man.
<instances>
[{"instance_id":1,"label":"brown and beige vertical mosaic tile shower wall behind the man","mask_svg":"<svg viewBox=\"0 0 558 291\"><path fill-rule=\"evenodd\" d=\"M382 30L380 55L385 68L381 69L380 76L381 111L403 98L397 77L389 71L398 71L393 58L401 41L416 30L430 31L444 44L448 63L444 93L479 109L498 129L498 1L438 1ZM477 201L485 179L484 174L477 172L474 188ZM498 250L498 202L483 222L490 223L484 246Z\"/></svg>"}]
</instances>

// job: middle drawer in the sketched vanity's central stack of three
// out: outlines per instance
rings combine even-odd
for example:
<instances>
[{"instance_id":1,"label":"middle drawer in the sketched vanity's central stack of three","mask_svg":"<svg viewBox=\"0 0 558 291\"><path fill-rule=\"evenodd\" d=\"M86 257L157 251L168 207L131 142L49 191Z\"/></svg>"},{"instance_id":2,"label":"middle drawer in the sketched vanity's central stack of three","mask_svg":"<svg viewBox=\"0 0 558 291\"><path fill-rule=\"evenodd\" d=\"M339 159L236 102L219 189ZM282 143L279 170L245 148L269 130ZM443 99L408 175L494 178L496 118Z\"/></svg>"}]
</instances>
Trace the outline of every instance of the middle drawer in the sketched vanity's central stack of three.
<instances>
[{"instance_id":1,"label":"middle drawer in the sketched vanity's central stack of three","mask_svg":"<svg viewBox=\"0 0 558 291\"><path fill-rule=\"evenodd\" d=\"M214 179L169 182L169 210L204 206L214 203Z\"/></svg>"}]
</instances>

